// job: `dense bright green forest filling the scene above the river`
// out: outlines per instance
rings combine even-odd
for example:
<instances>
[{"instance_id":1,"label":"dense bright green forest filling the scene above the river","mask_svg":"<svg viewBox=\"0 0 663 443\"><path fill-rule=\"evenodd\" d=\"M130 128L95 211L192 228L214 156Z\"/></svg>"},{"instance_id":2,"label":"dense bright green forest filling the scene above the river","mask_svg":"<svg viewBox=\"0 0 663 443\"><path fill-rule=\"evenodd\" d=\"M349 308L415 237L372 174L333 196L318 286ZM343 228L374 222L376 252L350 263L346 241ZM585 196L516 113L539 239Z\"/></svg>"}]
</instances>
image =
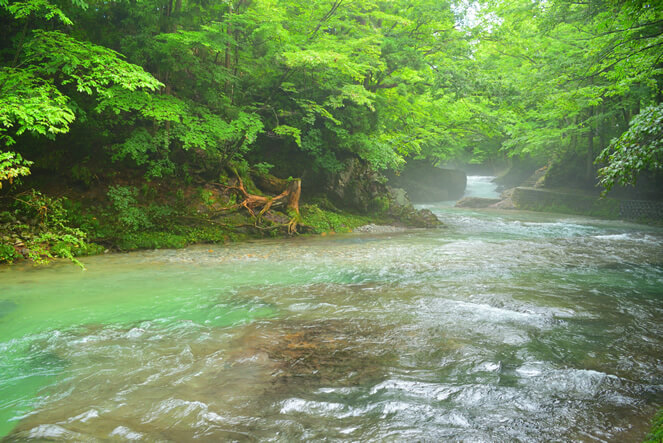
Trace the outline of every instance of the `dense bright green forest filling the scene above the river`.
<instances>
[{"instance_id":1,"label":"dense bright green forest filling the scene above the river","mask_svg":"<svg viewBox=\"0 0 663 443\"><path fill-rule=\"evenodd\" d=\"M605 189L663 167L646 0L0 0L0 23L0 261L403 217L327 191L411 160ZM303 215L255 222L300 179Z\"/></svg>"}]
</instances>

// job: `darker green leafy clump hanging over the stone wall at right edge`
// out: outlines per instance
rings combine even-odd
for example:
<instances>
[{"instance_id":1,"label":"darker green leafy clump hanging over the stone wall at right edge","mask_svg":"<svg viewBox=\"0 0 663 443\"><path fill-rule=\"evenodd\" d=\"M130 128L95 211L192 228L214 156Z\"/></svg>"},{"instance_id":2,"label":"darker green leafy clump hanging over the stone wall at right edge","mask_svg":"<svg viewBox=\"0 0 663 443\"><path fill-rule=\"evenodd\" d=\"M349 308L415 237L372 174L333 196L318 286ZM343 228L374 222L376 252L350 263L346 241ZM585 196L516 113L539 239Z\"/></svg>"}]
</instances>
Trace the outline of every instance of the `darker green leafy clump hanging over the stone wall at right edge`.
<instances>
[{"instance_id":1,"label":"darker green leafy clump hanging over the stone wall at right edge","mask_svg":"<svg viewBox=\"0 0 663 443\"><path fill-rule=\"evenodd\" d=\"M663 170L663 103L636 115L628 131L613 140L597 161L601 185L609 191L615 184L634 185L642 171Z\"/></svg>"}]
</instances>

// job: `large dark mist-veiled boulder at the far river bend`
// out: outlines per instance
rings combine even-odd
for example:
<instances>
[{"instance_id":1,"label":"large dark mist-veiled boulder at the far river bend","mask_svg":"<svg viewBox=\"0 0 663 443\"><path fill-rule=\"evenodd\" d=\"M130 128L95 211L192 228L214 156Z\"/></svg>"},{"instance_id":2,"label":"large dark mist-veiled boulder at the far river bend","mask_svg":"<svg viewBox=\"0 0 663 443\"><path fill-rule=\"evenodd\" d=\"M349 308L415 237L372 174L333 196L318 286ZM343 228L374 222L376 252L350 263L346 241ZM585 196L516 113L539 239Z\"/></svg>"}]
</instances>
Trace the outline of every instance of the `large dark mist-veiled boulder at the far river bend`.
<instances>
[{"instance_id":1,"label":"large dark mist-veiled boulder at the far river bend","mask_svg":"<svg viewBox=\"0 0 663 443\"><path fill-rule=\"evenodd\" d=\"M410 160L400 175L390 174L392 186L407 191L412 201L453 200L463 196L467 176L456 169L442 169L424 160Z\"/></svg>"}]
</instances>

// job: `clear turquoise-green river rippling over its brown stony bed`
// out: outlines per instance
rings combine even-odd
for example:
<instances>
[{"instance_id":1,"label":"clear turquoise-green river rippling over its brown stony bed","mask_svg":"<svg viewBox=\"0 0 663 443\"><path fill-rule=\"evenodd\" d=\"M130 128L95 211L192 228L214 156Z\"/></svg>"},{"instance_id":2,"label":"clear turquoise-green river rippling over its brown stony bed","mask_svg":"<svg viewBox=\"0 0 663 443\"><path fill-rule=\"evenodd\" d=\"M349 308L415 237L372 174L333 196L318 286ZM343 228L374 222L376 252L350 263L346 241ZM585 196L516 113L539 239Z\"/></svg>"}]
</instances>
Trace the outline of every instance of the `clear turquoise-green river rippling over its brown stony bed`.
<instances>
[{"instance_id":1,"label":"clear turquoise-green river rippling over its brown stony bed","mask_svg":"<svg viewBox=\"0 0 663 443\"><path fill-rule=\"evenodd\" d=\"M445 228L1 268L0 439L641 441L663 230L427 207Z\"/></svg>"}]
</instances>

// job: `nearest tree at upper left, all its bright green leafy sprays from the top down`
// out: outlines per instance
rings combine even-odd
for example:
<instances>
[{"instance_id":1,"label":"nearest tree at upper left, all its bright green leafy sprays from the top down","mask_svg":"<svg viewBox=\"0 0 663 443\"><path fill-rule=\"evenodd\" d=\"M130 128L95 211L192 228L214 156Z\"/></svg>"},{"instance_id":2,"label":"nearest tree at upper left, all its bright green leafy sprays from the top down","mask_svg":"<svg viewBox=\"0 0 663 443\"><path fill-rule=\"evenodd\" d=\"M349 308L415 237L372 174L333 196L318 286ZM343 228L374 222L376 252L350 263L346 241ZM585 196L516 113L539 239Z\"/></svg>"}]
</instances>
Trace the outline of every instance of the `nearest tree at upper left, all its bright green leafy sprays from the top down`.
<instances>
[{"instance_id":1,"label":"nearest tree at upper left, all its bright green leafy sprays from the top down","mask_svg":"<svg viewBox=\"0 0 663 443\"><path fill-rule=\"evenodd\" d=\"M80 7L87 7L77 2ZM156 90L161 85L117 52L81 41L61 30L73 25L47 0L0 1L0 19L14 35L13 53L0 58L0 149L23 133L53 138L66 133L76 118L77 94L108 97L112 88ZM49 24L51 29L33 28ZM7 38L8 36L5 36ZM29 173L30 162L0 152L0 180Z\"/></svg>"}]
</instances>

